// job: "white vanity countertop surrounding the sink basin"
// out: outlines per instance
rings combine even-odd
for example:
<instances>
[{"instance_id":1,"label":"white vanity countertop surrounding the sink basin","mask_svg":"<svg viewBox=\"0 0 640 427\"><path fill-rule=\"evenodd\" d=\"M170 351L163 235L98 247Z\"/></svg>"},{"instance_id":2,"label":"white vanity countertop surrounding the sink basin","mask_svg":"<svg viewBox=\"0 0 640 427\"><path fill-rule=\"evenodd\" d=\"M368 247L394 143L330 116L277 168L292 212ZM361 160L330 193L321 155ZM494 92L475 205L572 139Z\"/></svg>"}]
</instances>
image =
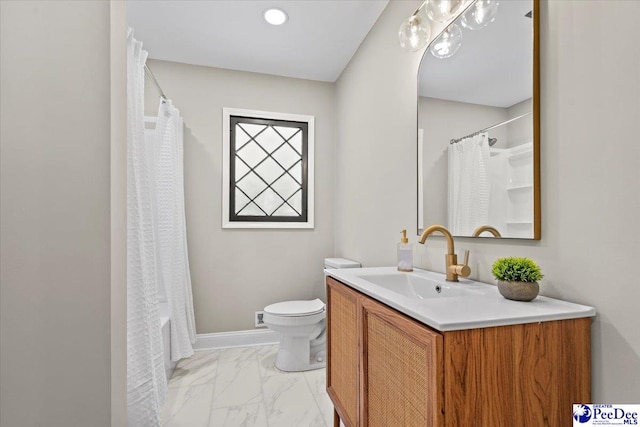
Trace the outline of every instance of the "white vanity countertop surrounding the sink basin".
<instances>
[{"instance_id":1,"label":"white vanity countertop surrounding the sink basin","mask_svg":"<svg viewBox=\"0 0 640 427\"><path fill-rule=\"evenodd\" d=\"M485 328L593 317L593 307L538 296L530 302L511 301L495 285L460 279L446 282L444 274L414 269L401 273L396 267L326 269L325 274L439 331ZM421 276L451 288L472 291L470 295L415 298L394 292L360 276L409 274Z\"/></svg>"}]
</instances>

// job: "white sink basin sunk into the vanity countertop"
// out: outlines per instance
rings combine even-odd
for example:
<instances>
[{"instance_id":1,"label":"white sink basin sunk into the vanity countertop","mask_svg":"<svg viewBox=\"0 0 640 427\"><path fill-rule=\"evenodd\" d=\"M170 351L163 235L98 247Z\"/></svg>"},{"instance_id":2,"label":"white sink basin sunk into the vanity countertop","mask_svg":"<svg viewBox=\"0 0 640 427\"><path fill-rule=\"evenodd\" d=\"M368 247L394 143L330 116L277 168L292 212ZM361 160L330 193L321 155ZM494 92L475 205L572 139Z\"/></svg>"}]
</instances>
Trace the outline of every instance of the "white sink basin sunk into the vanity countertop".
<instances>
[{"instance_id":1,"label":"white sink basin sunk into the vanity countertop","mask_svg":"<svg viewBox=\"0 0 640 427\"><path fill-rule=\"evenodd\" d=\"M367 274L358 276L374 285L409 298L447 298L480 295L482 292L468 289L465 285L449 284L429 279L415 273Z\"/></svg>"}]
</instances>

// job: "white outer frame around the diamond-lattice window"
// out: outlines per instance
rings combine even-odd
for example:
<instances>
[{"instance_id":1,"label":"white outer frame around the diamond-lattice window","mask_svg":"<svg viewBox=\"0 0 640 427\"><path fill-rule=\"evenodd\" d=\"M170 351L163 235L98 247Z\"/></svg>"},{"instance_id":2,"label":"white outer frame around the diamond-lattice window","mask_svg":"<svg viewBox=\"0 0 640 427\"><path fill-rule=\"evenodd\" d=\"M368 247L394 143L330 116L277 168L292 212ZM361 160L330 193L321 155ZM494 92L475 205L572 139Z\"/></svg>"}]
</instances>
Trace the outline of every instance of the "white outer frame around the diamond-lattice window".
<instances>
[{"instance_id":1,"label":"white outer frame around the diamond-lattice window","mask_svg":"<svg viewBox=\"0 0 640 427\"><path fill-rule=\"evenodd\" d=\"M229 127L231 116L252 117L267 120L288 120L294 122L306 122L307 135L307 221L305 222L251 222L229 220L229 186L230 186L230 149L231 129ZM245 110L240 108L222 109L222 228L314 228L314 139L315 117L301 114L276 113L271 111Z\"/></svg>"}]
</instances>

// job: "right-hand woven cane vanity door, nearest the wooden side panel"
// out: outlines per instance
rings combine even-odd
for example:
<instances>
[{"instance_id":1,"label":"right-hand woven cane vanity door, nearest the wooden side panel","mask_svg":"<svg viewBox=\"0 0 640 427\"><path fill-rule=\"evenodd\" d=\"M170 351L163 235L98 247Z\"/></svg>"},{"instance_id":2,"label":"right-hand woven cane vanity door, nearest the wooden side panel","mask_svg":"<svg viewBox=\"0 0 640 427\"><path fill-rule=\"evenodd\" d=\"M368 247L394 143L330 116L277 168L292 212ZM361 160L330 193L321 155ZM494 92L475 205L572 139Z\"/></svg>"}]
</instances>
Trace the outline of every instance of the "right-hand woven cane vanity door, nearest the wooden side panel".
<instances>
[{"instance_id":1,"label":"right-hand woven cane vanity door, nearest the wooden side panel","mask_svg":"<svg viewBox=\"0 0 640 427\"><path fill-rule=\"evenodd\" d=\"M442 335L363 298L363 426L444 424Z\"/></svg>"}]
</instances>

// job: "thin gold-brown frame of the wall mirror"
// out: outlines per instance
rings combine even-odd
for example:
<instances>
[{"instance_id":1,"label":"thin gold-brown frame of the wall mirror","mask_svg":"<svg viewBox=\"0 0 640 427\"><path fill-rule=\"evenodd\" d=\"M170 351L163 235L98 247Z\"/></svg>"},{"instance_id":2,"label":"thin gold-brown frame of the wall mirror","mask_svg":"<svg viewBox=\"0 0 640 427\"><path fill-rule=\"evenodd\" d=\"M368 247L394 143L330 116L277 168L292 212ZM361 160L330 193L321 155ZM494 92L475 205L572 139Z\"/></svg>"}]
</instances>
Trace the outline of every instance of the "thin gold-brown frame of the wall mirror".
<instances>
[{"instance_id":1,"label":"thin gold-brown frame of the wall mirror","mask_svg":"<svg viewBox=\"0 0 640 427\"><path fill-rule=\"evenodd\" d=\"M477 1L477 0L476 0ZM422 63L424 61L425 55L429 54L429 48L431 47L431 43L433 43L439 36L442 34L449 26L455 23L458 18L460 18L464 13L475 3L472 1L464 8L464 10L456 16L455 19L450 21L447 26L445 26L442 31L438 34L433 34L431 41L425 48L422 54L422 58L420 59L420 65L418 66L418 74L416 76L417 83L417 102L416 102L416 175L419 170L419 162L420 159L418 157L418 122L419 122L419 112L420 112L420 69L422 67ZM532 81L532 115L533 115L533 237L502 237L501 239L509 239L509 240L541 240L542 239L542 208L541 208L541 175L540 175L540 0L532 0L532 10L533 10L533 81ZM417 176L417 179L420 177ZM416 180L417 180L416 179ZM420 196L418 194L418 186L416 188L416 201L420 200ZM424 202L424 201L423 201ZM418 230L418 235L422 232L419 227L420 219L418 218L418 209L416 206L416 229ZM454 236L454 237L464 237L464 238L485 238L485 239L494 239L493 236Z\"/></svg>"}]
</instances>

